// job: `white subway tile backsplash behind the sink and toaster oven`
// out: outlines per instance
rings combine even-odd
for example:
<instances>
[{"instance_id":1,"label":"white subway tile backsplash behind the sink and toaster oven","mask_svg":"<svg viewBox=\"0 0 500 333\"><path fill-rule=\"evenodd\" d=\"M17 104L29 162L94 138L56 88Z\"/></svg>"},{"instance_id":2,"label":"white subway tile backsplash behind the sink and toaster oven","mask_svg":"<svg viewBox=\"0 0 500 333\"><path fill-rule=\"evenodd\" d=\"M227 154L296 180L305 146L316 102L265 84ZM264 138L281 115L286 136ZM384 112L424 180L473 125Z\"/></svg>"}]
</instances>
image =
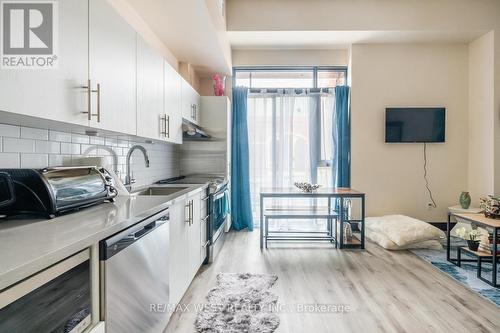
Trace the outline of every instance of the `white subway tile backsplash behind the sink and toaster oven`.
<instances>
[{"instance_id":1,"label":"white subway tile backsplash behind the sink and toaster oven","mask_svg":"<svg viewBox=\"0 0 500 333\"><path fill-rule=\"evenodd\" d=\"M105 157L108 168L116 169L124 180L126 156L130 147L146 148L150 167L144 165L140 151L132 155L134 186L180 174L180 150L168 143L143 143L118 137L92 137L82 134L0 124L0 168L44 168L68 166L82 157Z\"/></svg>"}]
</instances>

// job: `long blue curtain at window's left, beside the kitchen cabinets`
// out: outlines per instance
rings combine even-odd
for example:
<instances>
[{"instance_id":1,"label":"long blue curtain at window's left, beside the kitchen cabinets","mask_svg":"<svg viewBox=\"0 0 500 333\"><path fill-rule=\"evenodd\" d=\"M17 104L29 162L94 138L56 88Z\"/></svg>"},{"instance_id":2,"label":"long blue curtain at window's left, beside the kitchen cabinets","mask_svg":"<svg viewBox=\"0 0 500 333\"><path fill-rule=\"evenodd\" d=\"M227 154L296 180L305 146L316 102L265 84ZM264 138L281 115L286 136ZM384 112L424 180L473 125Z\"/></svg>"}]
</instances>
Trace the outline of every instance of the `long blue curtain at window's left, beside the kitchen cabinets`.
<instances>
[{"instance_id":1,"label":"long blue curtain at window's left, beside the kitchen cabinets","mask_svg":"<svg viewBox=\"0 0 500 333\"><path fill-rule=\"evenodd\" d=\"M235 230L253 230L248 162L248 89L233 89L231 125L231 218Z\"/></svg>"}]
</instances>

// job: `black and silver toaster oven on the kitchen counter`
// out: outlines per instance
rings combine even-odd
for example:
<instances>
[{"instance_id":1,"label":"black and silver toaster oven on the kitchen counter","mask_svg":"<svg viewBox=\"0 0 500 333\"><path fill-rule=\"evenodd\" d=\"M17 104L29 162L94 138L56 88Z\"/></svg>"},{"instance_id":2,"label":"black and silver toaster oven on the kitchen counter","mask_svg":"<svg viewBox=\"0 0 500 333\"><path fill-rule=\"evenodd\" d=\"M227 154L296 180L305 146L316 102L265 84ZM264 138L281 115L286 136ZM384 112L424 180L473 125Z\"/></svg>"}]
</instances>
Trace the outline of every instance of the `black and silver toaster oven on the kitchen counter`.
<instances>
[{"instance_id":1,"label":"black and silver toaster oven on the kitchen counter","mask_svg":"<svg viewBox=\"0 0 500 333\"><path fill-rule=\"evenodd\" d=\"M53 218L70 210L112 202L116 195L113 179L105 169L0 169L0 215Z\"/></svg>"}]
</instances>

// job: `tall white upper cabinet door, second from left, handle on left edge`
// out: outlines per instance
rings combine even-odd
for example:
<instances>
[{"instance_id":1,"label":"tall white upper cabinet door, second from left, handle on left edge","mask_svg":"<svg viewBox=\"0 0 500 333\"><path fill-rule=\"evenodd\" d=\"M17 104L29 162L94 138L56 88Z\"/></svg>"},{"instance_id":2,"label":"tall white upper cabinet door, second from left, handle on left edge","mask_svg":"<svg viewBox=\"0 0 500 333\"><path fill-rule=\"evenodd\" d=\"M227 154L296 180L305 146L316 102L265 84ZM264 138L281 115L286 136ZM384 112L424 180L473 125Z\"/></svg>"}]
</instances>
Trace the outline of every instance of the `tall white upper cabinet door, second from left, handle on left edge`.
<instances>
[{"instance_id":1,"label":"tall white upper cabinet door, second from left, handle on left edge","mask_svg":"<svg viewBox=\"0 0 500 333\"><path fill-rule=\"evenodd\" d=\"M90 0L92 127L136 134L136 32L106 0ZM98 86L99 85L99 86Z\"/></svg>"}]
</instances>

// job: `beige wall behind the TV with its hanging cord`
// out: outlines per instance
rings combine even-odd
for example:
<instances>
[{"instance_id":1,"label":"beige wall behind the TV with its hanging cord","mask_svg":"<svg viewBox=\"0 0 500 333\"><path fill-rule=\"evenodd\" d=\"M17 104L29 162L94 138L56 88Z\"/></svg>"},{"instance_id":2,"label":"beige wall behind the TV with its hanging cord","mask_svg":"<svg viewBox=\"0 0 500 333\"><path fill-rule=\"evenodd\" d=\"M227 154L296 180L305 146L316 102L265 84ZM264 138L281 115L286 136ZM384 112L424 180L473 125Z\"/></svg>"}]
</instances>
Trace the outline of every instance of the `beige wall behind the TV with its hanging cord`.
<instances>
[{"instance_id":1,"label":"beige wall behind the TV with its hanging cord","mask_svg":"<svg viewBox=\"0 0 500 333\"><path fill-rule=\"evenodd\" d=\"M352 187L367 193L367 214L445 220L467 189L467 45L353 45L351 57ZM446 143L427 150L437 209L427 208L423 145L384 142L388 106L446 107Z\"/></svg>"}]
</instances>

